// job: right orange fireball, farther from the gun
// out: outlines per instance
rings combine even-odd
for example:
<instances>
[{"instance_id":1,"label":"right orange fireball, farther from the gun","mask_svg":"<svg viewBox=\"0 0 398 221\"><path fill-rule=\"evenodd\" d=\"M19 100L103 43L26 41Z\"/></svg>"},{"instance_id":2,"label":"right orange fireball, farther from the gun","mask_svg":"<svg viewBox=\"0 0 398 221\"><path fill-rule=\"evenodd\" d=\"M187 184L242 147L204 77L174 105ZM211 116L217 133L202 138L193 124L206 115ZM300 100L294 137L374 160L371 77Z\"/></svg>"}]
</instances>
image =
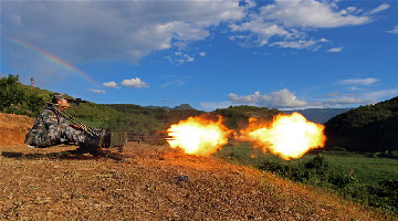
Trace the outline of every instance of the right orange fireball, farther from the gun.
<instances>
[{"instance_id":1,"label":"right orange fireball, farther from the gun","mask_svg":"<svg viewBox=\"0 0 398 221\"><path fill-rule=\"evenodd\" d=\"M308 122L303 115L277 115L271 124L250 119L249 128L241 130L241 140L253 141L283 159L300 158L310 149L323 147L326 141L324 126Z\"/></svg>"}]
</instances>

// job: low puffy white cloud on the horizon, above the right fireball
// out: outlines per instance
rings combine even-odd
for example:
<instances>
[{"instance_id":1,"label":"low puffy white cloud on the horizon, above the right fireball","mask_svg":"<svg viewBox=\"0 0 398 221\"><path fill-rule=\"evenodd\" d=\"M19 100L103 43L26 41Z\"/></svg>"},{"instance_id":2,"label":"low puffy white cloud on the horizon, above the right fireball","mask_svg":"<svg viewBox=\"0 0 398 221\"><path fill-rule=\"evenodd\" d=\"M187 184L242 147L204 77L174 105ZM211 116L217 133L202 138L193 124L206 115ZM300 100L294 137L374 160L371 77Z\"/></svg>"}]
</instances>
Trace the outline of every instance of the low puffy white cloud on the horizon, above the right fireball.
<instances>
[{"instance_id":1,"label":"low puffy white cloud on the horizon, above the right fireball","mask_svg":"<svg viewBox=\"0 0 398 221\"><path fill-rule=\"evenodd\" d=\"M228 98L232 104L265 106L270 108L295 108L307 105L307 102L297 99L297 97L286 88L270 94L260 94L260 92L255 92L254 94L247 96L239 96L230 93Z\"/></svg>"}]
</instances>

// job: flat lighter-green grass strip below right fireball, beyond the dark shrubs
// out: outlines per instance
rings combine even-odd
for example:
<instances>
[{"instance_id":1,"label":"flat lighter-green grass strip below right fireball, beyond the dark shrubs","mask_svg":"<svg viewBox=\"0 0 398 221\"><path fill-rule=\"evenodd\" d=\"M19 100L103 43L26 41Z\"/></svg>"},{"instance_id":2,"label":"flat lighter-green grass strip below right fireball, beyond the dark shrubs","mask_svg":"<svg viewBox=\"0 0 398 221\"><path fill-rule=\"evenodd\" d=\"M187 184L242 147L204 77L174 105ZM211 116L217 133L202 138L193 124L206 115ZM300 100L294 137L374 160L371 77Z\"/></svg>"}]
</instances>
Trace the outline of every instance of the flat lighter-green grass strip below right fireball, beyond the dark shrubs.
<instances>
[{"instance_id":1,"label":"flat lighter-green grass strip below right fireball, beyond the dark shrubs","mask_svg":"<svg viewBox=\"0 0 398 221\"><path fill-rule=\"evenodd\" d=\"M347 151L322 151L321 154L328 162L329 169L339 173L347 173L353 169L354 176L365 185L377 185L381 180L398 178L398 159L375 158L373 155ZM263 154L260 149L252 148L249 143L227 145L214 154L217 157L254 167L260 167L263 161L301 166L316 155L306 154L298 159L284 160L271 152Z\"/></svg>"}]
</instances>

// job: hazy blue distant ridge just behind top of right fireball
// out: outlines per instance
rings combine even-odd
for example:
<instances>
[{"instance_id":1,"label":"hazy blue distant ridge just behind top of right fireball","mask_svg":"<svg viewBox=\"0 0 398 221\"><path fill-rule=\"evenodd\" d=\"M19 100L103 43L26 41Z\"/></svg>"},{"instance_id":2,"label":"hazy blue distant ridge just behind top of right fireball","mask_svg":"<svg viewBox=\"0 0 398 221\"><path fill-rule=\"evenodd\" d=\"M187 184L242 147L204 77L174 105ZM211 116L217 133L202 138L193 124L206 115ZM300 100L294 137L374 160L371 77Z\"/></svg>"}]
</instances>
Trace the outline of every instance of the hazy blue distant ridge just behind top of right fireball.
<instances>
[{"instance_id":1,"label":"hazy blue distant ridge just behind top of right fireball","mask_svg":"<svg viewBox=\"0 0 398 221\"><path fill-rule=\"evenodd\" d=\"M310 122L314 122L317 124L325 124L327 120L333 117L346 113L352 108L308 108L308 109L295 109L295 110L283 110L286 114L292 114L293 112L297 112L302 114Z\"/></svg>"}]
</instances>

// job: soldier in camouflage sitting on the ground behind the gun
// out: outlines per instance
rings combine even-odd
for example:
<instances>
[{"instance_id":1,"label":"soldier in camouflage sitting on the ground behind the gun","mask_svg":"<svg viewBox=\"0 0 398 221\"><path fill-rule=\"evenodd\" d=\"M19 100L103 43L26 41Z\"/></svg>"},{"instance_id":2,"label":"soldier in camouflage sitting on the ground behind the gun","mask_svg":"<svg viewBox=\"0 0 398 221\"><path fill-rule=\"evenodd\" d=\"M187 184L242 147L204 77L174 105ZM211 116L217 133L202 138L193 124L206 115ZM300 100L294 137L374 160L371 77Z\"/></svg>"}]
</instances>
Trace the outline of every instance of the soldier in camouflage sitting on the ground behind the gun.
<instances>
[{"instance_id":1,"label":"soldier in camouflage sitting on the ground behind the gun","mask_svg":"<svg viewBox=\"0 0 398 221\"><path fill-rule=\"evenodd\" d=\"M53 95L52 104L38 116L25 144L34 147L50 147L65 143L74 143L82 148L97 149L103 145L105 130L94 130L83 124L69 124L64 109L70 108L66 96L62 93Z\"/></svg>"}]
</instances>

